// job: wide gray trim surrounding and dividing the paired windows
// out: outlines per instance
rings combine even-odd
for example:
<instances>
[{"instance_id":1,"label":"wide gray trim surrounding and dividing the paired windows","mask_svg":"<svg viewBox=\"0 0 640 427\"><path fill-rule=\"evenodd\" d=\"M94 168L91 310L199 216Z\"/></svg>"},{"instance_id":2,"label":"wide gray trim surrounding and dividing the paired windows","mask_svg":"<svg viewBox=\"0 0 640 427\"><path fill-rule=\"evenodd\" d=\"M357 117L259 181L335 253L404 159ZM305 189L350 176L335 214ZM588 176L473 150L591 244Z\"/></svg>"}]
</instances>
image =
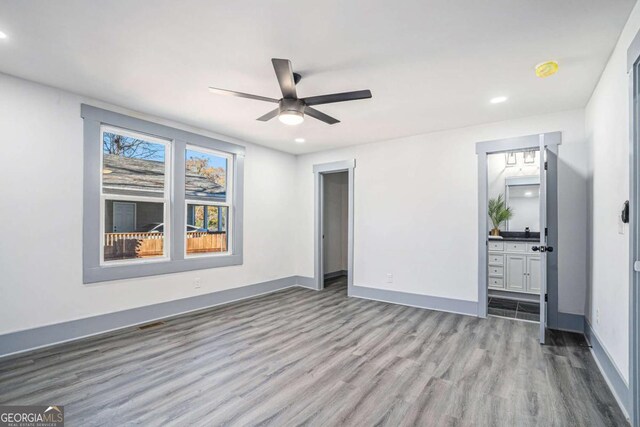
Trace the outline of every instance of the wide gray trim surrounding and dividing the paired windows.
<instances>
[{"instance_id":1,"label":"wide gray trim surrounding and dividing the paired windows","mask_svg":"<svg viewBox=\"0 0 640 427\"><path fill-rule=\"evenodd\" d=\"M243 146L86 104L81 105L81 117L84 119L83 283L131 279L243 263L245 155ZM165 185L168 185L170 190L169 202L165 206L165 211L168 212L168 221L165 222L167 258L149 258L142 261L126 261L125 263L110 261L106 265L101 263L101 253L103 252L101 244L104 237L100 235L100 232L96 233L96 230L102 230L104 227L101 188L102 144L100 140L103 126L170 141L167 150L169 160L167 161L165 157L166 166L171 168L171 178L165 181ZM233 167L233 175L230 181L234 191L228 202L231 206L229 227L233 228L229 233L230 251L224 254L186 257L186 238L182 239L178 236L171 238L171 230L181 230L186 224L185 153L187 146L231 156L232 162L230 164ZM117 195L109 195L108 197L111 196L117 198ZM162 200L164 199L158 198L157 202Z\"/></svg>"}]
</instances>

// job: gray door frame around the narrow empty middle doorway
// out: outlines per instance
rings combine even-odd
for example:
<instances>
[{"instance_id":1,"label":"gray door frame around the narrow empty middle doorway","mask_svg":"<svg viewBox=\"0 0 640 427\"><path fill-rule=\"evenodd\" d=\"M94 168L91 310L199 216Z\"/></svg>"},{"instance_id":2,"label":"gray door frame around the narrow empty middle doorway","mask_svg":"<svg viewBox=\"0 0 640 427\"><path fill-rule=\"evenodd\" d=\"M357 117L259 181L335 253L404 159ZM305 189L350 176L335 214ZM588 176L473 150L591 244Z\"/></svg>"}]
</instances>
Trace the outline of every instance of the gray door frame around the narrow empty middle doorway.
<instances>
[{"instance_id":1,"label":"gray door frame around the narrow empty middle doorway","mask_svg":"<svg viewBox=\"0 0 640 427\"><path fill-rule=\"evenodd\" d=\"M324 226L324 175L347 172L348 178L348 213L347 213L347 295L353 289L353 207L354 207L354 169L355 159L313 165L314 174L314 282L317 290L324 289L324 243L322 239Z\"/></svg>"}]
</instances>

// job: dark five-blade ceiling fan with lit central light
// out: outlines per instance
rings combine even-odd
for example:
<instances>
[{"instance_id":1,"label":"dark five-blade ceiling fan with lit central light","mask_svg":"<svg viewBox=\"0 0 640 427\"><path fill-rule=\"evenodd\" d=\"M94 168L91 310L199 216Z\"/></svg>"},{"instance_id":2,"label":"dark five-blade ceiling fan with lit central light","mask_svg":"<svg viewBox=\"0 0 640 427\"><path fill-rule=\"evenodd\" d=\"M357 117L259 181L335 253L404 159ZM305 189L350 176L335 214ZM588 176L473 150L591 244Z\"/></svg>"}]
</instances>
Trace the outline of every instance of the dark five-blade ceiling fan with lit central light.
<instances>
[{"instance_id":1,"label":"dark five-blade ceiling fan with lit central light","mask_svg":"<svg viewBox=\"0 0 640 427\"><path fill-rule=\"evenodd\" d=\"M298 94L296 93L296 84L300 81L301 76L300 74L293 72L293 69L291 68L291 61L288 59L272 58L271 62L273 63L273 68L276 71L276 77L278 78L280 89L282 90L281 99L251 95L249 93L218 89L215 87L210 87L209 91L219 95L238 96L240 98L249 98L278 104L278 108L268 112L262 117L258 117L258 120L266 122L278 116L278 119L287 125L297 125L302 123L304 121L305 114L330 125L340 123L340 120L334 119L333 117L312 108L312 106L371 98L370 90L357 90L354 92L298 98Z\"/></svg>"}]
</instances>

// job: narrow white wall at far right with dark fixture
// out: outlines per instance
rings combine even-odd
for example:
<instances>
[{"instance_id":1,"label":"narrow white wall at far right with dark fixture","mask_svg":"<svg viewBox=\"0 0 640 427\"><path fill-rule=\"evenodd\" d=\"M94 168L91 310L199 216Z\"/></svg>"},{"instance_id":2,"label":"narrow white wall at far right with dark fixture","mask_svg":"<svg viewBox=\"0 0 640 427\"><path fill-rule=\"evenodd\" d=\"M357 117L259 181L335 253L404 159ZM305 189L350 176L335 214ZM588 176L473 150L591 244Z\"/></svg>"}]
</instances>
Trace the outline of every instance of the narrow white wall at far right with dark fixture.
<instances>
[{"instance_id":1,"label":"narrow white wall at far right with dark fixture","mask_svg":"<svg viewBox=\"0 0 640 427\"><path fill-rule=\"evenodd\" d=\"M619 220L629 199L627 49L640 30L636 5L586 107L591 241L586 315L623 378L629 377L629 233ZM620 233L622 227L622 233Z\"/></svg>"}]
</instances>

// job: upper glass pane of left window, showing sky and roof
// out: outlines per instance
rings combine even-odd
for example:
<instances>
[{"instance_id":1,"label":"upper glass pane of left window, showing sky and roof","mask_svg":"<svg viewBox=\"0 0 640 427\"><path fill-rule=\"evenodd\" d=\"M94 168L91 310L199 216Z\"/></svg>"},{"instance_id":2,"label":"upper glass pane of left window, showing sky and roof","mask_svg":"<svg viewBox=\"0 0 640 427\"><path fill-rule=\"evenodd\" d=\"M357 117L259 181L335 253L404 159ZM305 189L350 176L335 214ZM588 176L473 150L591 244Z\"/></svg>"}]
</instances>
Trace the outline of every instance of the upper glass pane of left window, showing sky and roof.
<instances>
[{"instance_id":1,"label":"upper glass pane of left window, showing sky and roof","mask_svg":"<svg viewBox=\"0 0 640 427\"><path fill-rule=\"evenodd\" d=\"M163 144L104 131L102 153L103 193L164 197Z\"/></svg>"}]
</instances>

